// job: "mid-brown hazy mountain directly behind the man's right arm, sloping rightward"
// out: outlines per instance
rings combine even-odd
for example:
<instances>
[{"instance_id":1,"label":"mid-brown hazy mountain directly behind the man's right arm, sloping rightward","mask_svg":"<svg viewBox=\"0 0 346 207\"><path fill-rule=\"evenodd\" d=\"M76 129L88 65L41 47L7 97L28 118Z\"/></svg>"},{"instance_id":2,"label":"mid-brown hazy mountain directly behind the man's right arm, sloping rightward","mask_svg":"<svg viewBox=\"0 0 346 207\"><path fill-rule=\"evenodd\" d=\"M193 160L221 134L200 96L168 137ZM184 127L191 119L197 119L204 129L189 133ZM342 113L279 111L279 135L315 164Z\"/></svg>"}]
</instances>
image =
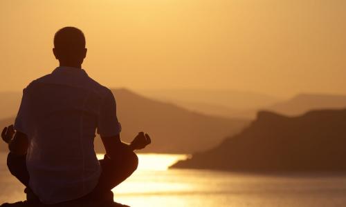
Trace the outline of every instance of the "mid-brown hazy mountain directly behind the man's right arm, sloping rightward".
<instances>
[{"instance_id":1,"label":"mid-brown hazy mountain directly behind the man's right arm, sloping rightward","mask_svg":"<svg viewBox=\"0 0 346 207\"><path fill-rule=\"evenodd\" d=\"M151 135L153 143L141 152L191 153L216 146L228 134L242 130L248 121L202 115L171 103L148 99L126 89L112 90L117 101L121 137L131 141L139 131ZM0 126L12 123L0 121ZM95 150L104 150L100 137Z\"/></svg>"}]
</instances>

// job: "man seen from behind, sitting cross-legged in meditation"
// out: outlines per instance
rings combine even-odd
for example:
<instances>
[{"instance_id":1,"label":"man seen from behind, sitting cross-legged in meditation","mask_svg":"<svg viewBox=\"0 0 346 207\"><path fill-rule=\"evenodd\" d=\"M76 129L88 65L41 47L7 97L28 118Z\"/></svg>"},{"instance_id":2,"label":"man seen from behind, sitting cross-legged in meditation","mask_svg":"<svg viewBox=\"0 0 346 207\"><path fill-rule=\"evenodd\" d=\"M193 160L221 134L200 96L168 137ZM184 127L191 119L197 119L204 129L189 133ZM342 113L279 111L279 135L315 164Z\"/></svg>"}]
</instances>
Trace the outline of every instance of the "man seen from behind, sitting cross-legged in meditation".
<instances>
[{"instance_id":1,"label":"man seen from behind, sitting cross-legged in meditation","mask_svg":"<svg viewBox=\"0 0 346 207\"><path fill-rule=\"evenodd\" d=\"M60 66L24 89L14 128L3 130L8 168L43 204L113 201L111 189L136 170L133 151L150 144L150 137L140 132L131 144L120 140L111 90L82 69L86 48L81 30L57 31L53 53ZM106 149L100 161L93 148L95 131Z\"/></svg>"}]
</instances>

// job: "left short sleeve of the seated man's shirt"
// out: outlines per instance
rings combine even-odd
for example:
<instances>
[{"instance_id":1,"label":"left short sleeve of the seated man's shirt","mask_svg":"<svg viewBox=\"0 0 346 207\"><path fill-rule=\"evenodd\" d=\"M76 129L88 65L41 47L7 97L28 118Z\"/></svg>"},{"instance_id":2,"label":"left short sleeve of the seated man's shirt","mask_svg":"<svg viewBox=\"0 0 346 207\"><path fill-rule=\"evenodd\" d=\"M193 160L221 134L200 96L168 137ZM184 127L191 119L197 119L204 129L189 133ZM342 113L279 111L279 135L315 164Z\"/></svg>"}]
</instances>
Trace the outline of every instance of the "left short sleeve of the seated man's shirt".
<instances>
[{"instance_id":1,"label":"left short sleeve of the seated man's shirt","mask_svg":"<svg viewBox=\"0 0 346 207\"><path fill-rule=\"evenodd\" d=\"M28 89L23 90L23 97L21 97L21 105L15 119L15 130L22 132L26 135L30 134L30 108L29 108L29 97Z\"/></svg>"}]
</instances>

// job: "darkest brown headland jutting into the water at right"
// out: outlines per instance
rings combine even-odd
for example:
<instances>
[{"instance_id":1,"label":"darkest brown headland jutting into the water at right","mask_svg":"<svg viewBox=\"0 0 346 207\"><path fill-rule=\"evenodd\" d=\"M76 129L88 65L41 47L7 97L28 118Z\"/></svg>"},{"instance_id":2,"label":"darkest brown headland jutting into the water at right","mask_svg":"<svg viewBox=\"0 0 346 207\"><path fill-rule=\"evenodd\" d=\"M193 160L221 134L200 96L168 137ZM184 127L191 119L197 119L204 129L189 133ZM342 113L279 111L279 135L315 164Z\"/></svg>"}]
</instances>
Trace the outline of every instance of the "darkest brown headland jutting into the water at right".
<instances>
[{"instance_id":1,"label":"darkest brown headland jutting into the water at right","mask_svg":"<svg viewBox=\"0 0 346 207\"><path fill-rule=\"evenodd\" d=\"M259 112L251 126L173 168L242 172L346 171L346 110L299 117Z\"/></svg>"}]
</instances>

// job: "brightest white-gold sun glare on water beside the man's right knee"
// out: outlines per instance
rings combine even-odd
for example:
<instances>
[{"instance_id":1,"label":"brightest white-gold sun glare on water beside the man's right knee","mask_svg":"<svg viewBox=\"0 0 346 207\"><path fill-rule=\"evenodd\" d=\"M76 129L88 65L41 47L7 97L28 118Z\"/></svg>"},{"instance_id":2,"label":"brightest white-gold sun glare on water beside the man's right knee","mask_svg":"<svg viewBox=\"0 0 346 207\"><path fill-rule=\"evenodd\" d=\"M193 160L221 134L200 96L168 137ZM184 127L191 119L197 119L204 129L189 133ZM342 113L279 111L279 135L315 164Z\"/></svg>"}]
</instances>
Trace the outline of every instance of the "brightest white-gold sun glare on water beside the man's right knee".
<instances>
[{"instance_id":1,"label":"brightest white-gold sun glare on water beside the man's right knee","mask_svg":"<svg viewBox=\"0 0 346 207\"><path fill-rule=\"evenodd\" d=\"M103 155L98 155L102 159ZM129 197L154 196L165 193L176 194L192 190L188 183L176 181L179 175L172 176L166 171L176 161L187 159L189 155L138 154L138 169L124 183L113 189L116 201ZM131 199L133 201L133 199Z\"/></svg>"}]
</instances>

